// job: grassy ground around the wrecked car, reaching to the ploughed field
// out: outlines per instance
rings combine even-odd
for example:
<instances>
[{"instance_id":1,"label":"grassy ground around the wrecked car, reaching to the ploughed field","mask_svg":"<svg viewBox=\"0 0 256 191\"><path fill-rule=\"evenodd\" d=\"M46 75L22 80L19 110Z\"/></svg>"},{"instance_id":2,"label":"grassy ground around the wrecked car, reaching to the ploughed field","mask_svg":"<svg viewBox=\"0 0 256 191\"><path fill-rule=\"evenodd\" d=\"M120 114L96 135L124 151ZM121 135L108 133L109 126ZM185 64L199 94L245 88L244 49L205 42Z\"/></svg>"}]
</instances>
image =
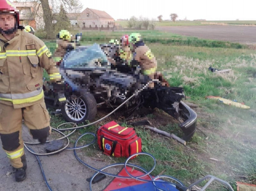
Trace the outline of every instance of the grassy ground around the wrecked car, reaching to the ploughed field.
<instances>
[{"instance_id":1,"label":"grassy ground around the wrecked car, reaching to the ploughed field","mask_svg":"<svg viewBox=\"0 0 256 191\"><path fill-rule=\"evenodd\" d=\"M83 34L82 44L108 42L111 38L119 38L124 33L86 32ZM143 151L151 153L156 158L157 165L152 175L163 173L174 176L186 185L207 174L230 182L233 188L235 181L256 184L255 50L237 43L201 40L164 32L140 33L157 58L158 71L166 76L170 85L184 87L187 102L198 105L195 111L198 113L199 129L192 140L187 142L187 146L136 127L142 138ZM53 51L56 45L55 42L47 42L47 46ZM209 66L218 69L230 68L232 71L215 74L208 70ZM251 110L208 100L205 96L209 95L244 102ZM156 114L159 112L161 114L161 111L156 111ZM154 115L147 117L149 120L157 120ZM61 116L52 116L53 127L63 122ZM82 129L78 134L86 131L95 132L98 126ZM158 128L176 135L181 134L176 124ZM73 136L72 141L75 138ZM100 153L97 149L95 151L95 148L96 144L84 149L84 152L86 155L94 156L95 152ZM109 160L107 157L105 159ZM152 165L147 157L140 157L134 161L146 169L150 169ZM224 191L225 188L214 184L209 190Z\"/></svg>"}]
</instances>

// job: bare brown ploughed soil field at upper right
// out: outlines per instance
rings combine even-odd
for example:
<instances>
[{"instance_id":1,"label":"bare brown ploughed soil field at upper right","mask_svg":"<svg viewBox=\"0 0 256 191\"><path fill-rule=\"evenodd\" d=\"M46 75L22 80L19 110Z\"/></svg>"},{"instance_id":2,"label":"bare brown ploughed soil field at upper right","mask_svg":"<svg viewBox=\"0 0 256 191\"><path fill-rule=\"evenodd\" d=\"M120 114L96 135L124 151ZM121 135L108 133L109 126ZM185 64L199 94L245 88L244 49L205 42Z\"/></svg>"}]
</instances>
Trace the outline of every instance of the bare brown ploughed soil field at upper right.
<instances>
[{"instance_id":1,"label":"bare brown ploughed soil field at upper right","mask_svg":"<svg viewBox=\"0 0 256 191\"><path fill-rule=\"evenodd\" d=\"M202 39L256 44L255 26L159 26L156 27L156 30L172 32L185 36L193 36Z\"/></svg>"}]
</instances>

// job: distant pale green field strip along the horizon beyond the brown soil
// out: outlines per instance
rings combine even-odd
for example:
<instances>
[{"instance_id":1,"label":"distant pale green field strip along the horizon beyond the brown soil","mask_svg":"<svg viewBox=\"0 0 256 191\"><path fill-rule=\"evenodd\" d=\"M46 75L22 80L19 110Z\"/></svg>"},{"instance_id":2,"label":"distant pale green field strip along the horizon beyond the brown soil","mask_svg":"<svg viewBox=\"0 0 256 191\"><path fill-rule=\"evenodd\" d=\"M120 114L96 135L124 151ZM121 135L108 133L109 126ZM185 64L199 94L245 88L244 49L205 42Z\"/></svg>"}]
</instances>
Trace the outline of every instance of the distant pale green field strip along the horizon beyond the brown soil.
<instances>
[{"instance_id":1,"label":"distant pale green field strip along the horizon beyond the brown soil","mask_svg":"<svg viewBox=\"0 0 256 191\"><path fill-rule=\"evenodd\" d=\"M123 28L128 27L128 21L116 21ZM156 21L156 26L192 26L209 24L227 25L256 25L256 21Z\"/></svg>"}]
</instances>

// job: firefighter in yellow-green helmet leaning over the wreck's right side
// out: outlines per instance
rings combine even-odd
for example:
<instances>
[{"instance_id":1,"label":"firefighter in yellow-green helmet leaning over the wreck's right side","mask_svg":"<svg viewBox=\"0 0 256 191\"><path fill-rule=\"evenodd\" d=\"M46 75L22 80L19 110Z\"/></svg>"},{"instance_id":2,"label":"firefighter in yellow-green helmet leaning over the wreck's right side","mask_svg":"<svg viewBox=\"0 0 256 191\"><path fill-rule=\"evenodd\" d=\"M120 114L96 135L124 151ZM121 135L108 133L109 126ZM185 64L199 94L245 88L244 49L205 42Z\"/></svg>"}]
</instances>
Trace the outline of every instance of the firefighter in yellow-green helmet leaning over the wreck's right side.
<instances>
[{"instance_id":1,"label":"firefighter in yellow-green helmet leaning over the wreck's right side","mask_svg":"<svg viewBox=\"0 0 256 191\"><path fill-rule=\"evenodd\" d=\"M150 48L142 41L140 33L131 33L129 35L129 42L132 46L133 61L140 65L142 74L154 79L157 62ZM153 83L149 85L149 87L153 86Z\"/></svg>"}]
</instances>

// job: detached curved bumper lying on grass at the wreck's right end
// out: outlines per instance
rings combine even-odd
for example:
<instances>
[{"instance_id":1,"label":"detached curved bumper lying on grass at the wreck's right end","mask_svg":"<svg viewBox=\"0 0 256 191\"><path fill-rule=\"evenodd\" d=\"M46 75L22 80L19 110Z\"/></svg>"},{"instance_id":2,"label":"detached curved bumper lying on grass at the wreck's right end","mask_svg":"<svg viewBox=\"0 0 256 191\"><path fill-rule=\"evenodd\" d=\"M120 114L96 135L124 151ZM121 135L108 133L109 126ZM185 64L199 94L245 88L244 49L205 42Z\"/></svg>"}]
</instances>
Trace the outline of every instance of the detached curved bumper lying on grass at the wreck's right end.
<instances>
[{"instance_id":1,"label":"detached curved bumper lying on grass at the wreck's right end","mask_svg":"<svg viewBox=\"0 0 256 191\"><path fill-rule=\"evenodd\" d=\"M181 109L180 118L184 121L179 126L184 133L184 140L189 140L194 135L197 128L197 113L187 106L183 101L179 104Z\"/></svg>"}]
</instances>

